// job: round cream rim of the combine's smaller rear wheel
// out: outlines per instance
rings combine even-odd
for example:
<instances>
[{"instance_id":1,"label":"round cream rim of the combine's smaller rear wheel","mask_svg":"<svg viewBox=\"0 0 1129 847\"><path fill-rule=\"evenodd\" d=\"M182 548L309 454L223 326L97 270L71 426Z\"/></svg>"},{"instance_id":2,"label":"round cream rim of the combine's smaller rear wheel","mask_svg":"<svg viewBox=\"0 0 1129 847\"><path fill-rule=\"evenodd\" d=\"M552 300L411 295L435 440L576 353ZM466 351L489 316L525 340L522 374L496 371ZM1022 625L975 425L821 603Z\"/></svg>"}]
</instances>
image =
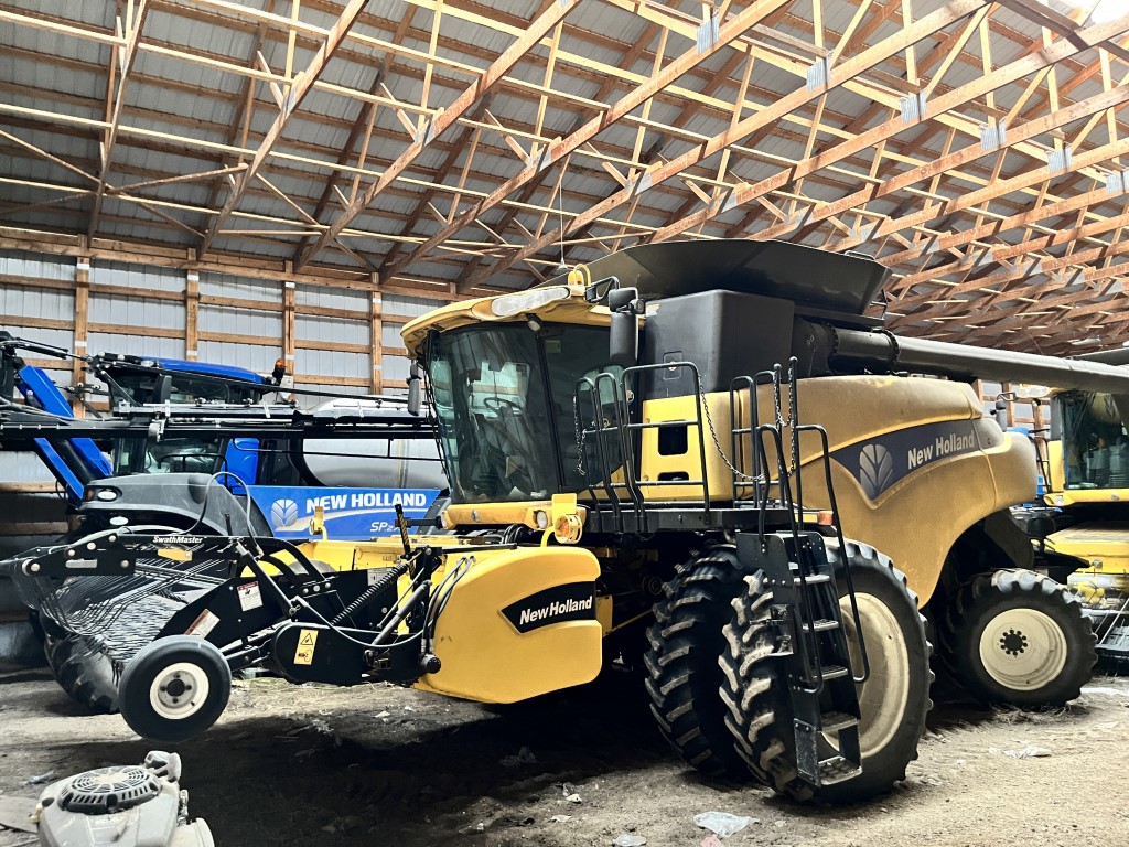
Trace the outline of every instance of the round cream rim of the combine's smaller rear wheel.
<instances>
[{"instance_id":1,"label":"round cream rim of the combine's smaller rear wheel","mask_svg":"<svg viewBox=\"0 0 1129 847\"><path fill-rule=\"evenodd\" d=\"M1062 628L1034 609L1000 612L980 635L980 662L988 675L1014 691L1034 691L1066 666Z\"/></svg>"}]
</instances>

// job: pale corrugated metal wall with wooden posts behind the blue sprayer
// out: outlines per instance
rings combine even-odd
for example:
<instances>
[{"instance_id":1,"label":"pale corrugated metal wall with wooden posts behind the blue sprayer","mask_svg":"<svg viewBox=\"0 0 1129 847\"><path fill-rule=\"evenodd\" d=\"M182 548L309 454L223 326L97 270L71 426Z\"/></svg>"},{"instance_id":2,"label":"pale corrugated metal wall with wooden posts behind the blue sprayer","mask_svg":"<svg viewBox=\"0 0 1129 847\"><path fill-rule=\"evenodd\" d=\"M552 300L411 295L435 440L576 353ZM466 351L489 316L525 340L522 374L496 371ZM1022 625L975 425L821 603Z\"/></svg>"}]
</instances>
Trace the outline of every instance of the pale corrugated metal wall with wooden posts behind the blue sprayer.
<instances>
[{"instance_id":1,"label":"pale corrugated metal wall with wooden posts behind the blue sprayer","mask_svg":"<svg viewBox=\"0 0 1129 847\"><path fill-rule=\"evenodd\" d=\"M86 315L76 314L80 267L89 271ZM199 294L194 326L189 296L193 285ZM288 303L294 307L291 339L286 338ZM402 392L408 360L400 329L440 305L329 285L212 271L196 276L180 268L98 259L80 265L70 256L0 251L0 329L15 335L77 352L196 358L260 373L272 370L289 343L294 358L287 366L296 383L335 393ZM86 330L85 348L81 340L76 347L76 325ZM380 326L383 367L374 366L374 325ZM71 384L65 364L47 358L35 358L34 364L45 366L59 385ZM0 484L49 480L34 456L0 451Z\"/></svg>"}]
</instances>

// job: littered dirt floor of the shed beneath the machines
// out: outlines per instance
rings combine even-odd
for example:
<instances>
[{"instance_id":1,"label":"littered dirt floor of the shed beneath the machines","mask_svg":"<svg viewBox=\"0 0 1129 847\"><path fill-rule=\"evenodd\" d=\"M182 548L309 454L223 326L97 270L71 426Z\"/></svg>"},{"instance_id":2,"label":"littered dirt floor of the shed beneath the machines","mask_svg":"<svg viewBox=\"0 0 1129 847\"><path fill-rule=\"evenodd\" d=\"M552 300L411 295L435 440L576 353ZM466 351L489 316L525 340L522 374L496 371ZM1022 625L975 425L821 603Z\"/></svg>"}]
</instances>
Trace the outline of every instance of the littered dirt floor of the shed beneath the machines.
<instances>
[{"instance_id":1,"label":"littered dirt floor of the shed beneath the machines","mask_svg":"<svg viewBox=\"0 0 1129 847\"><path fill-rule=\"evenodd\" d=\"M819 809L700 779L619 676L497 710L386 686L243 681L221 722L177 748L182 785L220 847L578 847L623 835L698 846L710 833L693 818L711 810L754 819L727 844L1129 845L1126 679L1097 678L1049 715L938 707L904 785ZM151 746L116 715L84 714L45 671L0 674L0 796L34 797L34 776L137 763ZM1027 748L1049 754L1009 756ZM0 831L0 847L26 844Z\"/></svg>"}]
</instances>

